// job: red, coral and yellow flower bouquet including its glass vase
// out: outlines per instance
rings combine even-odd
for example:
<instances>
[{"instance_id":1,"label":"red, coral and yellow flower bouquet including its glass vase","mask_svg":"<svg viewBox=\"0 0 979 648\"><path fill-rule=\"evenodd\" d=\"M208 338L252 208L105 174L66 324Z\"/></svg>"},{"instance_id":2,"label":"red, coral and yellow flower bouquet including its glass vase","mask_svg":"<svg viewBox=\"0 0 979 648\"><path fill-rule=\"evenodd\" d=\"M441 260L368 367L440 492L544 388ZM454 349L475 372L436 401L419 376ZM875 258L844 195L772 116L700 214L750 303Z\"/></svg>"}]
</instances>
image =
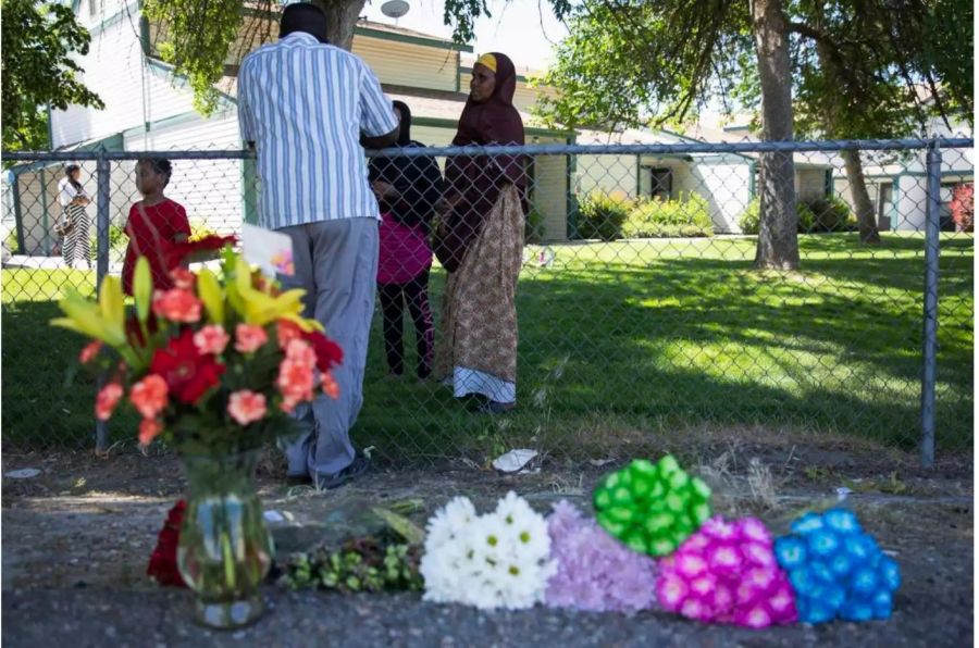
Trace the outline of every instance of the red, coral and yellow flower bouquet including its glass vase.
<instances>
[{"instance_id":1,"label":"red, coral and yellow flower bouquet including its glass vase","mask_svg":"<svg viewBox=\"0 0 979 648\"><path fill-rule=\"evenodd\" d=\"M281 291L230 247L221 275L177 267L172 289L153 290L139 259L128 312L120 279L107 276L97 303L70 292L51 323L94 338L80 361L106 376L96 416L125 403L141 416L141 446L161 439L181 454L189 493L178 568L199 621L236 627L261 614L258 585L273 553L253 483L258 450L297 432L298 404L319 391L336 398L331 370L343 352L301 315L302 290Z\"/></svg>"}]
</instances>

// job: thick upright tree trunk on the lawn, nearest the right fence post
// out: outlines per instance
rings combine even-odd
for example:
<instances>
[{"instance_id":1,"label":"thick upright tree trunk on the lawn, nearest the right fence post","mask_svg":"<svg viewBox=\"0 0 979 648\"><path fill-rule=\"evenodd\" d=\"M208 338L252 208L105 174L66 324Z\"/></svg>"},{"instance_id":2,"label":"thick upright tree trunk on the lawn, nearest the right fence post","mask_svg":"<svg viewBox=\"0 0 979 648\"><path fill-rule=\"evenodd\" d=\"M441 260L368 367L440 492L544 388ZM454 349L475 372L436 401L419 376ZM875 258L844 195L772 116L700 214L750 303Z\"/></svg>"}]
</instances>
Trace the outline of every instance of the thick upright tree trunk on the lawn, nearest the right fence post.
<instances>
[{"instance_id":1,"label":"thick upright tree trunk on the lawn, nearest the right fence post","mask_svg":"<svg viewBox=\"0 0 979 648\"><path fill-rule=\"evenodd\" d=\"M761 138L792 140L792 68L782 0L749 0L761 82ZM795 162L791 152L761 153L761 223L755 267L798 267Z\"/></svg>"}]
</instances>

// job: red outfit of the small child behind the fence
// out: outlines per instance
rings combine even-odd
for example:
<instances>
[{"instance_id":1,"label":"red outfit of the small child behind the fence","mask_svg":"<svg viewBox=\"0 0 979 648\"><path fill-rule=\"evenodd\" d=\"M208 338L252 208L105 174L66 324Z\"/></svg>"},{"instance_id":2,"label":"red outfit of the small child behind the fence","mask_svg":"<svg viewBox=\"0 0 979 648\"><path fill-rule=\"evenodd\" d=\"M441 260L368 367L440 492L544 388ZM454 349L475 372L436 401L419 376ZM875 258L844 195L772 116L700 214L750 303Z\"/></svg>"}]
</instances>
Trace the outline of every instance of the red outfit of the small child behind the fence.
<instances>
[{"instance_id":1,"label":"red outfit of the small child behind the fence","mask_svg":"<svg viewBox=\"0 0 979 648\"><path fill-rule=\"evenodd\" d=\"M133 272L140 256L149 260L154 290L173 287L170 278L173 269L168 267L166 253L181 234L190 236L190 222L187 221L187 211L173 200L164 198L152 207L137 202L129 208L129 219L126 221L129 245L123 263L123 290L126 295L133 295Z\"/></svg>"}]
</instances>

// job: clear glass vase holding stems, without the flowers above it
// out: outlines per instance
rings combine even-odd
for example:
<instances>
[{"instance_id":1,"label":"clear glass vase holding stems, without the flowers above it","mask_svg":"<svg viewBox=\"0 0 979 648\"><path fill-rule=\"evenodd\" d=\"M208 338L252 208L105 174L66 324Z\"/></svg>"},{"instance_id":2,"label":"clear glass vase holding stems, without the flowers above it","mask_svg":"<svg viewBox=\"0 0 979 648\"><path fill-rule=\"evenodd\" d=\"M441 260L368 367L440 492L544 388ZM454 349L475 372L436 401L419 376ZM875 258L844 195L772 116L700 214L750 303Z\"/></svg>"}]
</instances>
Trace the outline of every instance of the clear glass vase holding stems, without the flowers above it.
<instances>
[{"instance_id":1,"label":"clear glass vase holding stems, without the flowers above it","mask_svg":"<svg viewBox=\"0 0 979 648\"><path fill-rule=\"evenodd\" d=\"M262 614L259 586L274 556L255 485L258 452L185 456L187 509L177 566L197 595L199 623L248 625Z\"/></svg>"}]
</instances>

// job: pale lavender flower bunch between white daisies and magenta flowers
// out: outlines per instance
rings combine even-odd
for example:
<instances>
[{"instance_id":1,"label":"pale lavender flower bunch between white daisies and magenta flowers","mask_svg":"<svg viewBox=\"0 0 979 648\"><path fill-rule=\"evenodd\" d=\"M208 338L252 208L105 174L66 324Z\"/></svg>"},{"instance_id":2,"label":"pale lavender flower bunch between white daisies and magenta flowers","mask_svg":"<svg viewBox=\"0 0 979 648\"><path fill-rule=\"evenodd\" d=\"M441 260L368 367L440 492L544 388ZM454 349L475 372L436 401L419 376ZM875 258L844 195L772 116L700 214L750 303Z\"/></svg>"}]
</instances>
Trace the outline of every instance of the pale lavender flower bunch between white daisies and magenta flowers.
<instances>
[{"instance_id":1,"label":"pale lavender flower bunch between white daisies and magenta flowers","mask_svg":"<svg viewBox=\"0 0 979 648\"><path fill-rule=\"evenodd\" d=\"M552 557L558 565L547 583L548 606L635 612L655 605L656 569L652 558L620 544L565 500L554 506L547 531Z\"/></svg>"}]
</instances>

